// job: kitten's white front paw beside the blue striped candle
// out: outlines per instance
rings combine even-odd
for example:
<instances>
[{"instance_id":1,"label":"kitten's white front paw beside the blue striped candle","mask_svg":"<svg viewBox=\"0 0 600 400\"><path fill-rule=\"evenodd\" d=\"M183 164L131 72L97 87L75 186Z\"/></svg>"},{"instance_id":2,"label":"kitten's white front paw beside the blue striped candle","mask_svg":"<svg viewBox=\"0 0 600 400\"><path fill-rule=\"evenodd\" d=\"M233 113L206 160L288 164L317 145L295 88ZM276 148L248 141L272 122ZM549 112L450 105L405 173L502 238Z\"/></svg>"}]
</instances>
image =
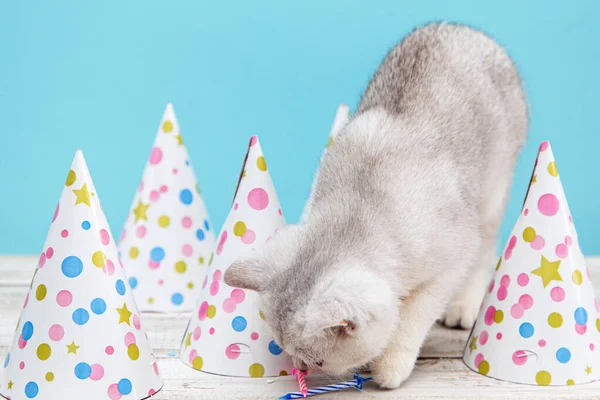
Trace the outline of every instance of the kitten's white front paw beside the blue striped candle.
<instances>
[{"instance_id":1,"label":"kitten's white front paw beside the blue striped candle","mask_svg":"<svg viewBox=\"0 0 600 400\"><path fill-rule=\"evenodd\" d=\"M386 353L373 362L373 378L383 389L397 389L409 377L416 361L416 357L406 353Z\"/></svg>"}]
</instances>

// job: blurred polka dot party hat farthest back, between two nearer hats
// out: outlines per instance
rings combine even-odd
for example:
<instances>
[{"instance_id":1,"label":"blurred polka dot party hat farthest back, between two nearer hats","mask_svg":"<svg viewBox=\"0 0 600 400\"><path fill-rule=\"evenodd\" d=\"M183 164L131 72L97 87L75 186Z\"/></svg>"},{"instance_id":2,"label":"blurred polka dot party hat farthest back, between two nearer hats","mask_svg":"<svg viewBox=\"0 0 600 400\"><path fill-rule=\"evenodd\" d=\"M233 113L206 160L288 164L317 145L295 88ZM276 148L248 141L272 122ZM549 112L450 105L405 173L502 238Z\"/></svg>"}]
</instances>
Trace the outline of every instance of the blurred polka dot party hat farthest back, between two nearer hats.
<instances>
[{"instance_id":1,"label":"blurred polka dot party hat farthest back, between two nearer hats","mask_svg":"<svg viewBox=\"0 0 600 400\"><path fill-rule=\"evenodd\" d=\"M191 311L215 236L173 106L165 109L119 250L142 311Z\"/></svg>"}]
</instances>

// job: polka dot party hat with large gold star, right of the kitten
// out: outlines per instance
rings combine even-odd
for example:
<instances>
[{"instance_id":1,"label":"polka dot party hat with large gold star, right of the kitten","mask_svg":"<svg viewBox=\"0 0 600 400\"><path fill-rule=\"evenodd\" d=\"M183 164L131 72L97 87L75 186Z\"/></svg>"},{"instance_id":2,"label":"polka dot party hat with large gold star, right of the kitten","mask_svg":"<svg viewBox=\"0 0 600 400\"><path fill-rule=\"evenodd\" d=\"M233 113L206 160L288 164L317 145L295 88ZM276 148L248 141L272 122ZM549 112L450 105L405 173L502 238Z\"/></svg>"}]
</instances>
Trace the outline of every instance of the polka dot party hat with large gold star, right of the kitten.
<instances>
[{"instance_id":1,"label":"polka dot party hat with large gold star, right of the kitten","mask_svg":"<svg viewBox=\"0 0 600 400\"><path fill-rule=\"evenodd\" d=\"M599 311L552 149L543 142L463 360L480 374L515 383L595 381Z\"/></svg>"}]
</instances>

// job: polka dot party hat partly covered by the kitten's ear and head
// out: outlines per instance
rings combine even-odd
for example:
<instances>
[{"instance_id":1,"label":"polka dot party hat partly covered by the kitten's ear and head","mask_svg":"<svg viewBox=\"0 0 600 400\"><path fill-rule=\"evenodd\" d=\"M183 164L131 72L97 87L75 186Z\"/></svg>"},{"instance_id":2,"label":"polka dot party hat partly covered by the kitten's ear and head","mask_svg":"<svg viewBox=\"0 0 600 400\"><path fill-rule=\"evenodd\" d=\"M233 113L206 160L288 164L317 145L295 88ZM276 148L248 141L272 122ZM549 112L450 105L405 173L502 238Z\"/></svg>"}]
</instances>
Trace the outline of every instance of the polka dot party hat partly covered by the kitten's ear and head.
<instances>
[{"instance_id":1,"label":"polka dot party hat partly covered by the kitten's ear and head","mask_svg":"<svg viewBox=\"0 0 600 400\"><path fill-rule=\"evenodd\" d=\"M204 372L243 377L278 376L291 359L267 333L258 294L228 286L223 275L240 255L285 225L256 136L244 161L233 208L211 255L203 291L181 343L181 360Z\"/></svg>"}]
</instances>

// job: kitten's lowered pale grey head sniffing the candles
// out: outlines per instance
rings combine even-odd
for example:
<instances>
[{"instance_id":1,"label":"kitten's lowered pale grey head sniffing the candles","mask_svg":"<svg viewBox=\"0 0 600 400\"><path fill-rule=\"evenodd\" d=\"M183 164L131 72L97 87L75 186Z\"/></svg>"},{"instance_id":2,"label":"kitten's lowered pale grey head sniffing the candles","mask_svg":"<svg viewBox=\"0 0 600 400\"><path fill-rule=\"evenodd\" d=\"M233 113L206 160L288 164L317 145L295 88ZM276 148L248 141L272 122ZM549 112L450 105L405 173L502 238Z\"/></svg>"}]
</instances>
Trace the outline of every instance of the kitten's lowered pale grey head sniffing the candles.
<instances>
[{"instance_id":1,"label":"kitten's lowered pale grey head sniffing the candles","mask_svg":"<svg viewBox=\"0 0 600 400\"><path fill-rule=\"evenodd\" d=\"M260 294L273 336L297 368L342 375L381 354L398 298L364 256L307 236L287 227L231 265L224 279Z\"/></svg>"}]
</instances>

